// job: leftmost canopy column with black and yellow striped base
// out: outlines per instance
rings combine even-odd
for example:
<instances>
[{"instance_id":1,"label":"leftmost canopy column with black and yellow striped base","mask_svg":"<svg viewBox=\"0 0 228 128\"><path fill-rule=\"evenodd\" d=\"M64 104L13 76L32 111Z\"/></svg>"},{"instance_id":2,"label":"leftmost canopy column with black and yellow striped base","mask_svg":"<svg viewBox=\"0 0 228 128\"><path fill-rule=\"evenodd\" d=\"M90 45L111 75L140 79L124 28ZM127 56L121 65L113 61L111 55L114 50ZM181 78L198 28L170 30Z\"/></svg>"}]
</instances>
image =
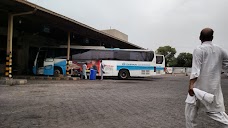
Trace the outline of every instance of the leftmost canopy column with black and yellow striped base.
<instances>
[{"instance_id":1,"label":"leftmost canopy column with black and yellow striped base","mask_svg":"<svg viewBox=\"0 0 228 128\"><path fill-rule=\"evenodd\" d=\"M13 15L8 15L7 55L5 76L12 78L12 42L13 42Z\"/></svg>"}]
</instances>

